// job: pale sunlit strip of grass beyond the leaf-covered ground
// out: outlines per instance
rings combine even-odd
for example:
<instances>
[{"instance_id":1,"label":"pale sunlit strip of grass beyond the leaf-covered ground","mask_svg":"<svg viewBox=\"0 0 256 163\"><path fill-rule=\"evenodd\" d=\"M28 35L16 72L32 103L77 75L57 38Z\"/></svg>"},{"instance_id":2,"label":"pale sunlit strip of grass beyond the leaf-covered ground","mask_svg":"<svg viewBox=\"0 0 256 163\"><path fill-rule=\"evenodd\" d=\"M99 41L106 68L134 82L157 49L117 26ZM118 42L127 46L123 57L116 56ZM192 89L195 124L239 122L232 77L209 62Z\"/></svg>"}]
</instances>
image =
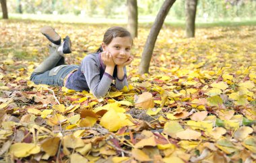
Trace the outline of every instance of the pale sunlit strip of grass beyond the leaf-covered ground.
<instances>
[{"instance_id":1,"label":"pale sunlit strip of grass beyond the leaf-covered ground","mask_svg":"<svg viewBox=\"0 0 256 163\"><path fill-rule=\"evenodd\" d=\"M155 16L139 16L139 25L152 25L155 20ZM60 23L100 23L100 24L126 24L127 17L125 16L116 16L116 17L101 17L101 16L94 16L94 17L82 17L79 15L36 15L36 14L17 14L17 13L10 13L9 19L14 19L17 21L22 20L34 20L34 21L53 21L53 22L60 22ZM165 24L170 25L176 28L184 28L185 27L185 20L184 19L176 19L167 16L165 19ZM233 19L196 19L196 27L197 28L210 28L215 26L240 26L240 25L256 25L256 17L255 18L233 18Z\"/></svg>"}]
</instances>

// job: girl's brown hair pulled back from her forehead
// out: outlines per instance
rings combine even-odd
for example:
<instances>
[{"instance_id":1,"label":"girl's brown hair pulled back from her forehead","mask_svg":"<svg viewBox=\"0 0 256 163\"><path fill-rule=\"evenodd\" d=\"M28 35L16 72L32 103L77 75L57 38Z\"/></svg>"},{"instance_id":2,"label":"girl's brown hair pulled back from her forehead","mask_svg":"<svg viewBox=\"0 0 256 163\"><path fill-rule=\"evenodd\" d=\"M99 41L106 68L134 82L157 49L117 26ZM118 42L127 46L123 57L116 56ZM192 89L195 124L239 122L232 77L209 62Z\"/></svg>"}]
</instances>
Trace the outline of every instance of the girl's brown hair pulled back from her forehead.
<instances>
[{"instance_id":1,"label":"girl's brown hair pulled back from her forehead","mask_svg":"<svg viewBox=\"0 0 256 163\"><path fill-rule=\"evenodd\" d=\"M113 38L117 37L130 37L131 38L131 45L133 45L133 38L131 37L131 34L129 31L127 31L125 28L115 26L112 28L108 28L104 34L103 42L108 45L110 42L112 42ZM102 47L98 48L97 52L103 52Z\"/></svg>"}]
</instances>

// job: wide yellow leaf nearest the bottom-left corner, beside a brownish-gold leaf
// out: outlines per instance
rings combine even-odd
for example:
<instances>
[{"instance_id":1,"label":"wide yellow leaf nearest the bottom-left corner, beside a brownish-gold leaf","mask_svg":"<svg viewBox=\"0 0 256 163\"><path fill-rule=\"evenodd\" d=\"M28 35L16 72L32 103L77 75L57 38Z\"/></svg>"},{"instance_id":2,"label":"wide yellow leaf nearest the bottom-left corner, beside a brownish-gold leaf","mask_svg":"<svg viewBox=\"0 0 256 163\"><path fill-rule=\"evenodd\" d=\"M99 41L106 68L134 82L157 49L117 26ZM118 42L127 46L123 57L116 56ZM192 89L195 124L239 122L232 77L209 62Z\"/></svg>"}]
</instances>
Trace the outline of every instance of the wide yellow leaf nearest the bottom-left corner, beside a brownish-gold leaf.
<instances>
[{"instance_id":1,"label":"wide yellow leaf nearest the bottom-left corner, beside a brownish-gold leaf","mask_svg":"<svg viewBox=\"0 0 256 163\"><path fill-rule=\"evenodd\" d=\"M24 158L30 156L30 154L37 154L40 152L40 146L37 144L28 143L16 143L12 144L9 148L9 152L15 157Z\"/></svg>"}]
</instances>

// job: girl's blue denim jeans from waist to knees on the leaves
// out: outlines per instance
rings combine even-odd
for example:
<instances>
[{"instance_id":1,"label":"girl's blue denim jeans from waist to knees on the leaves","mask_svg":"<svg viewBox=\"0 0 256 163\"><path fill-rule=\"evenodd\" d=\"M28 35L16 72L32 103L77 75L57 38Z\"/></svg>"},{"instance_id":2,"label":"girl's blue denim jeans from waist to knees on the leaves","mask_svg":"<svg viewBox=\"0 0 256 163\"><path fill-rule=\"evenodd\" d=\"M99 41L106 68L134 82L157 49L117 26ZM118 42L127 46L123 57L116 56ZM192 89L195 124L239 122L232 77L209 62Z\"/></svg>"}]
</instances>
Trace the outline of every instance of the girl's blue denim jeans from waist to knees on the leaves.
<instances>
[{"instance_id":1,"label":"girl's blue denim jeans from waist to knees on the leaves","mask_svg":"<svg viewBox=\"0 0 256 163\"><path fill-rule=\"evenodd\" d=\"M33 72L30 76L30 80L32 80L36 85L44 84L44 85L58 85L64 86L65 77L72 71L79 68L78 65L61 65L57 66L51 70L47 70L41 74L37 72Z\"/></svg>"}]
</instances>

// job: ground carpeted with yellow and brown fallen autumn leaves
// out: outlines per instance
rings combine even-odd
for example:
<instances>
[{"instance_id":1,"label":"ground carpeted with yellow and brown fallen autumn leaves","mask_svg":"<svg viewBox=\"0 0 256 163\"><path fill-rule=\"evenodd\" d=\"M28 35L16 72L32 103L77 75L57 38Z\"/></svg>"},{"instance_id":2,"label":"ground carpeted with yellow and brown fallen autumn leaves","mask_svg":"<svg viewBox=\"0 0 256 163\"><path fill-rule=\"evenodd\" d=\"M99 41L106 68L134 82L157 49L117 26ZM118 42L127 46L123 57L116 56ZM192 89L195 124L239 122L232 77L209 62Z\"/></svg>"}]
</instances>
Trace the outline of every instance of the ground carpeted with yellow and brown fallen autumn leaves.
<instances>
[{"instance_id":1,"label":"ground carpeted with yellow and brown fallen autumn leaves","mask_svg":"<svg viewBox=\"0 0 256 163\"><path fill-rule=\"evenodd\" d=\"M34 85L48 55L40 34L70 36L68 64L94 52L111 25L0 21L0 162L255 162L256 27L164 25L150 74L137 74L150 25L139 27L129 91L102 99Z\"/></svg>"}]
</instances>

